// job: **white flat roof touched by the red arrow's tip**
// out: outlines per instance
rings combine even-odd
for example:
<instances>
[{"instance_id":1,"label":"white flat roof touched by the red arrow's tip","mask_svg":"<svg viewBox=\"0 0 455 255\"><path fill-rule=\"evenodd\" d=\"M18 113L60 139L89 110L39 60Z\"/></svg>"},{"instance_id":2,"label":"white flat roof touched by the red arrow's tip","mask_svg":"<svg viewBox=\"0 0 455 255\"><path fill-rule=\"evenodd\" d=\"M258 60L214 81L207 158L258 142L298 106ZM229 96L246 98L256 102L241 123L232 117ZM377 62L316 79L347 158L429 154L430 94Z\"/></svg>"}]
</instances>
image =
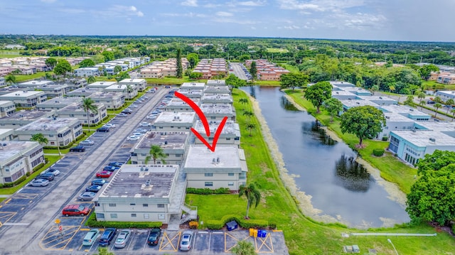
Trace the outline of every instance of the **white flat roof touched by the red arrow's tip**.
<instances>
[{"instance_id":1,"label":"white flat roof touched by the red arrow's tip","mask_svg":"<svg viewBox=\"0 0 455 255\"><path fill-rule=\"evenodd\" d=\"M227 168L241 170L239 148L233 146L216 146L215 151L210 151L205 145L192 144L188 148L185 171L188 168L194 170Z\"/></svg>"}]
</instances>

